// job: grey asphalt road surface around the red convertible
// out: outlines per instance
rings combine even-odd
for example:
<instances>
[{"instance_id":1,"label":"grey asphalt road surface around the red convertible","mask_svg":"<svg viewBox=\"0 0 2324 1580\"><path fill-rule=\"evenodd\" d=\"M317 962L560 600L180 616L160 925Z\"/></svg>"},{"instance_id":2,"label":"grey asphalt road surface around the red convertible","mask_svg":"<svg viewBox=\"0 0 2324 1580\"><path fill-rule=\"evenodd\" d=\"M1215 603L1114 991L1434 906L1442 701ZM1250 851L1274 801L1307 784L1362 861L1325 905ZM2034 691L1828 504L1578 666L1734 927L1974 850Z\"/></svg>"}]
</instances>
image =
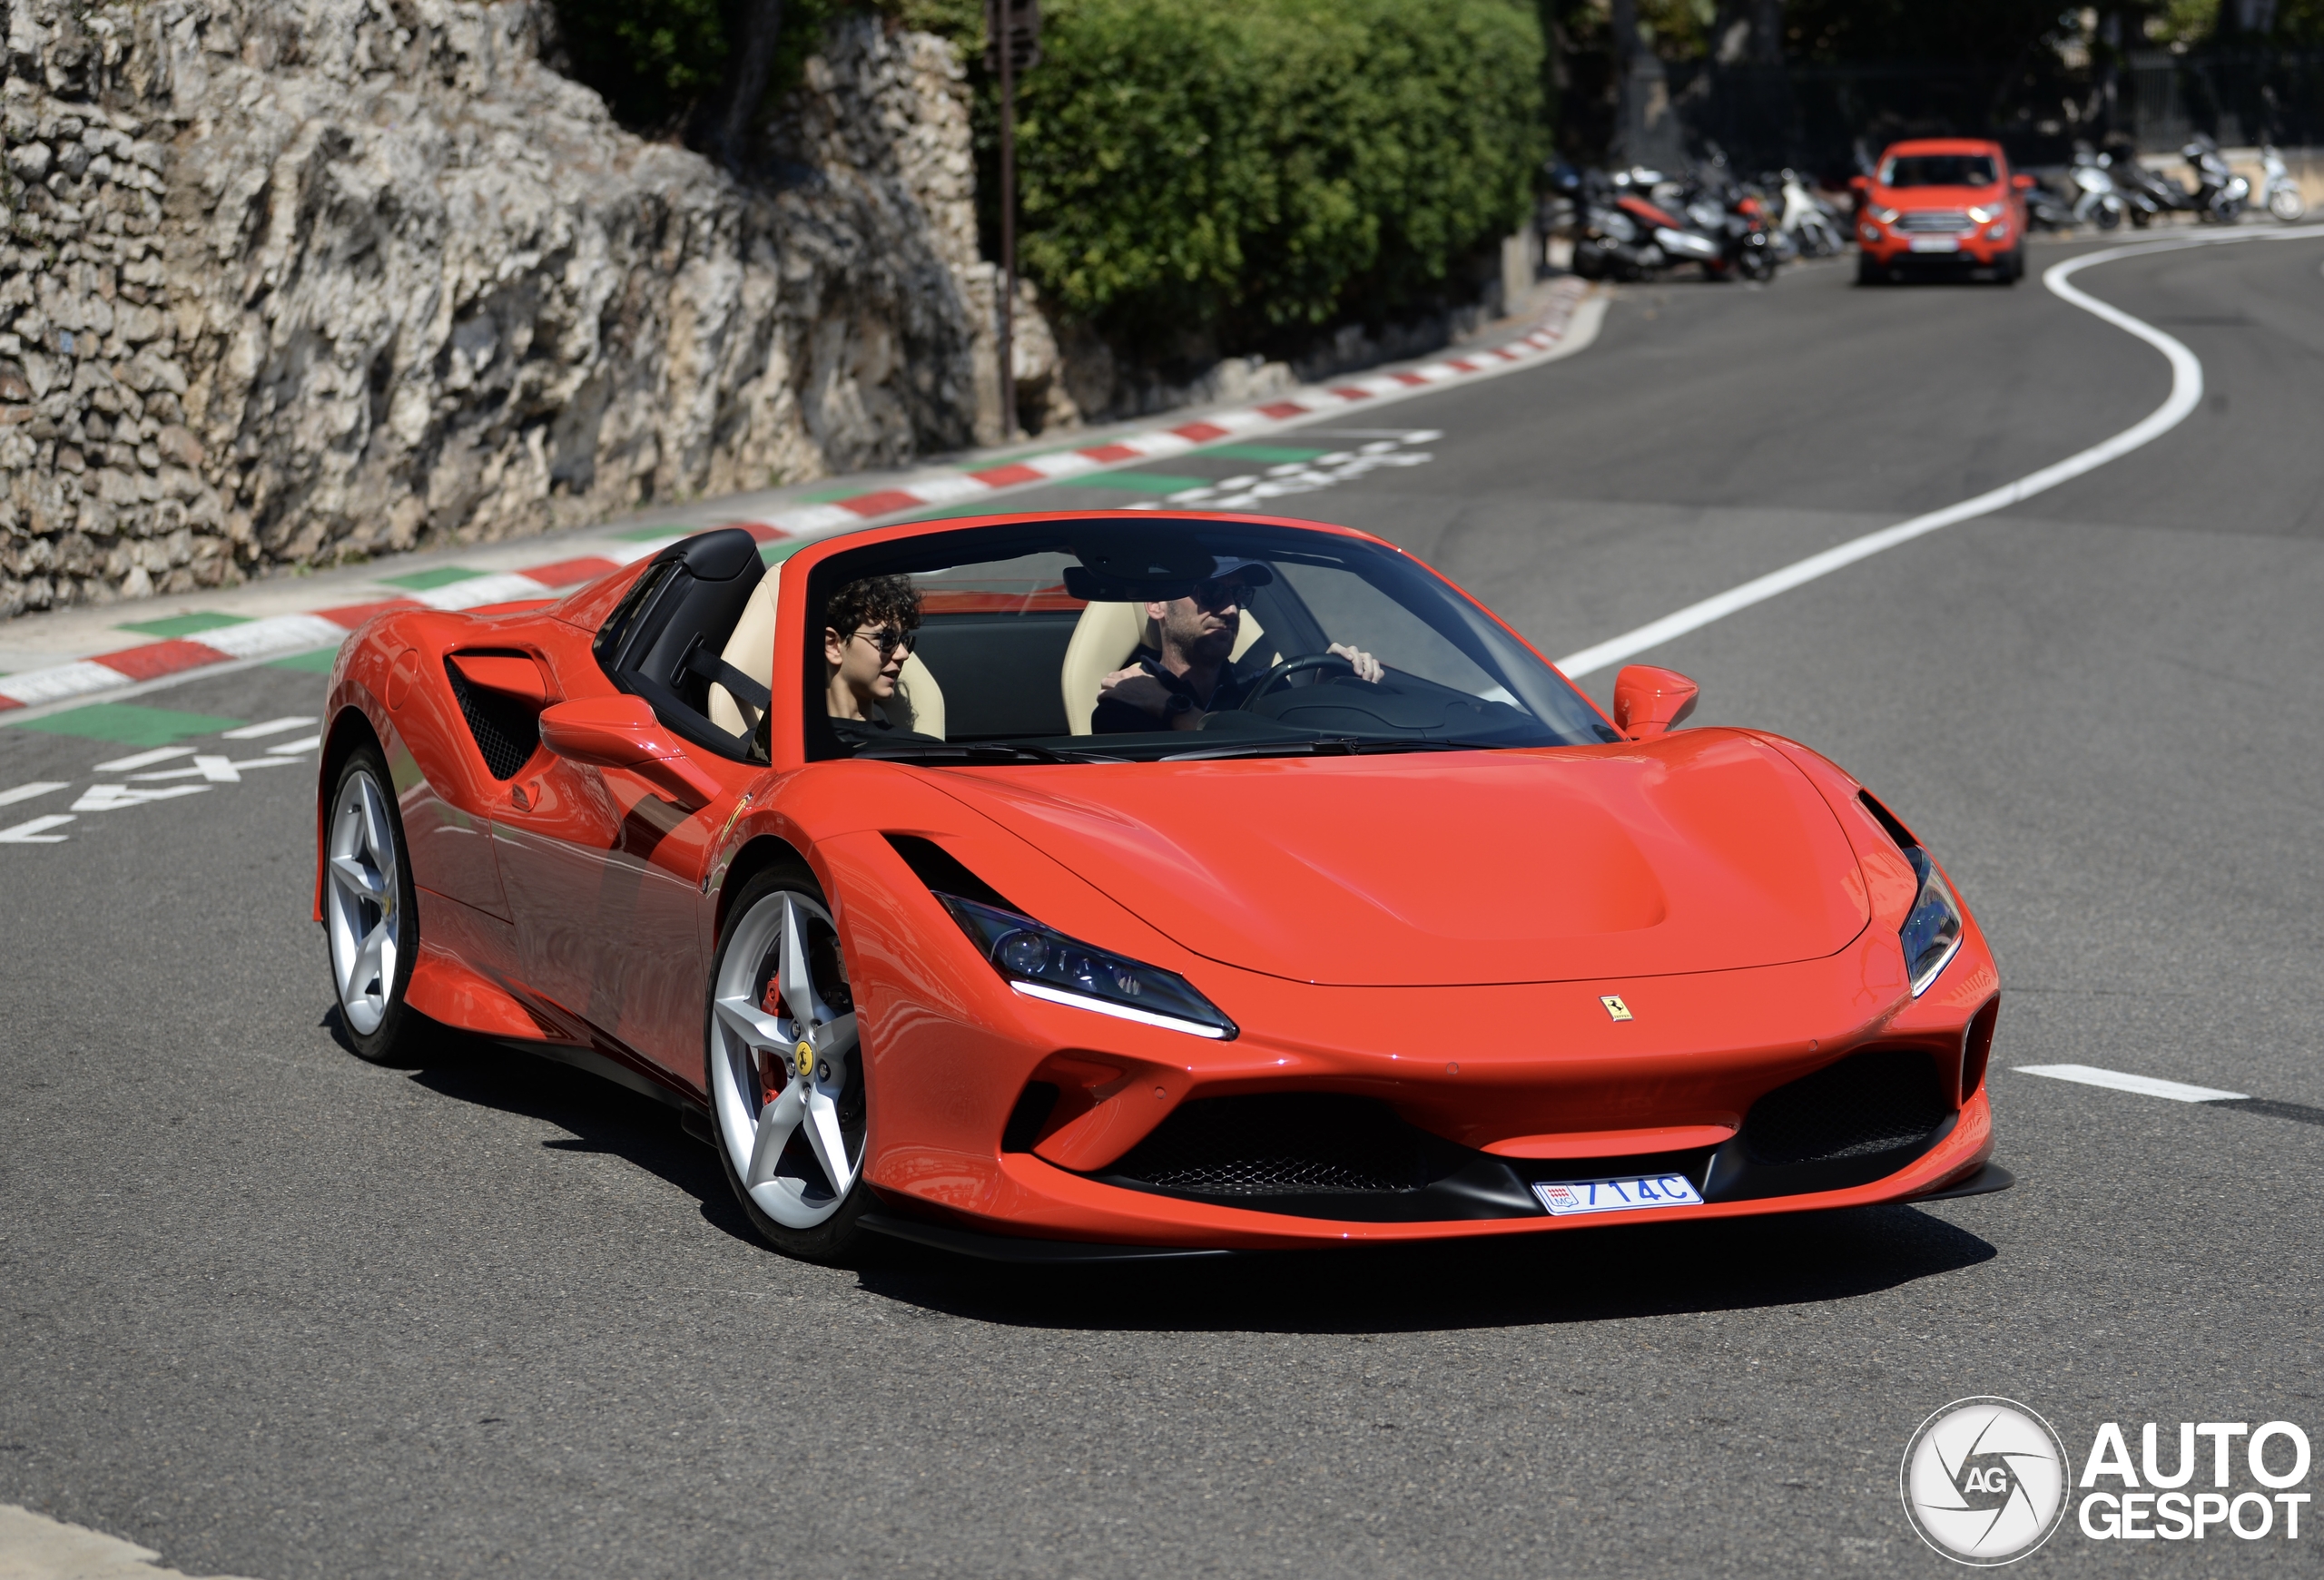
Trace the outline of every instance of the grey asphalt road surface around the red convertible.
<instances>
[{"instance_id":1,"label":"grey asphalt road surface around the red convertible","mask_svg":"<svg viewBox=\"0 0 2324 1580\"><path fill-rule=\"evenodd\" d=\"M2150 1420L2324 1448L2319 265L2254 242L2085 272L2196 351L2194 416L1648 655L1703 683L1701 723L1817 746L1948 862L2003 967L2017 1190L1141 1273L802 1266L665 1111L481 1046L346 1055L309 769L251 767L0 846L0 1501L260 1580L1934 1575L1896 1466L1966 1394L2033 1406L2075 1466L2108 1420L2133 1455ZM1441 435L1397 439L1425 462L1271 509L1383 532L1566 653L2166 390L2031 279L1673 281L1571 360L1383 409ZM314 713L318 678L137 702L214 716L186 741L221 751L228 720ZM186 725L114 730L0 727L0 788ZM2068 1062L2278 1108L2015 1073ZM2315 1541L2068 1522L2024 1573L2315 1573Z\"/></svg>"}]
</instances>

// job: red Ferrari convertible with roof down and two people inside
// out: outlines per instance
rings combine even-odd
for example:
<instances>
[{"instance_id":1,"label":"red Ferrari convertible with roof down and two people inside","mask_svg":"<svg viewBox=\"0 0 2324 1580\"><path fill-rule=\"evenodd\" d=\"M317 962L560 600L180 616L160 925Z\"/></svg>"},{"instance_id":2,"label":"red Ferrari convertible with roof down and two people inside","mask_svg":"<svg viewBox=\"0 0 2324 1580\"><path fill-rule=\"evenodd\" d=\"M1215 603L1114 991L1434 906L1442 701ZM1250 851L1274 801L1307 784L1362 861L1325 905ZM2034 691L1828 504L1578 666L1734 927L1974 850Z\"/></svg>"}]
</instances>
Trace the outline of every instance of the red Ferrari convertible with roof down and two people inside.
<instances>
[{"instance_id":1,"label":"red Ferrari convertible with roof down and two people inside","mask_svg":"<svg viewBox=\"0 0 2324 1580\"><path fill-rule=\"evenodd\" d=\"M344 1034L653 1092L776 1248L1155 1257L2008 1185L1910 830L1604 716L1408 553L1122 511L702 532L342 651Z\"/></svg>"}]
</instances>

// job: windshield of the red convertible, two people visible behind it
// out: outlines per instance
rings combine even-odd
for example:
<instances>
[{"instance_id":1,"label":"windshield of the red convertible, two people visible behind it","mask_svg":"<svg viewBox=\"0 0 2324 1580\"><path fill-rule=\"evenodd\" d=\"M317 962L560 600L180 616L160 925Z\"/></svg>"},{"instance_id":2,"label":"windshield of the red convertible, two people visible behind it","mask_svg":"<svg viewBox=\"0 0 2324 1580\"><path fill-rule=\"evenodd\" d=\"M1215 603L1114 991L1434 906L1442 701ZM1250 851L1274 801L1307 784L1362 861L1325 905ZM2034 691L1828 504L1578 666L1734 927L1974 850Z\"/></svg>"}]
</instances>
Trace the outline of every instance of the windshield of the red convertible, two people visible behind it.
<instances>
[{"instance_id":1,"label":"windshield of the red convertible, two people visible behind it","mask_svg":"<svg viewBox=\"0 0 2324 1580\"><path fill-rule=\"evenodd\" d=\"M806 606L825 616L806 655L816 757L1157 762L1620 739L1443 579L1334 532L969 527L837 553Z\"/></svg>"}]
</instances>

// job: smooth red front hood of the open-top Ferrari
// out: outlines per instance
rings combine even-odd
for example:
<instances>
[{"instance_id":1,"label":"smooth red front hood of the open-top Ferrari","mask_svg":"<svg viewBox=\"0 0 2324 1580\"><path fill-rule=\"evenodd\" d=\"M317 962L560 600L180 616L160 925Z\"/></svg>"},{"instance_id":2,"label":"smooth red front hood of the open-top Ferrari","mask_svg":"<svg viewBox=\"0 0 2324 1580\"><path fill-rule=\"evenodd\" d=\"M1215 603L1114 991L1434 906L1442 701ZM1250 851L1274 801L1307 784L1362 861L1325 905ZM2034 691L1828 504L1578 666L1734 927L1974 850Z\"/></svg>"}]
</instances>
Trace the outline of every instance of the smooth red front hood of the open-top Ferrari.
<instances>
[{"instance_id":1,"label":"smooth red front hood of the open-top Ferrari","mask_svg":"<svg viewBox=\"0 0 2324 1580\"><path fill-rule=\"evenodd\" d=\"M1304 983L1769 967L1871 915L1822 795L1731 730L932 776L1195 955Z\"/></svg>"}]
</instances>

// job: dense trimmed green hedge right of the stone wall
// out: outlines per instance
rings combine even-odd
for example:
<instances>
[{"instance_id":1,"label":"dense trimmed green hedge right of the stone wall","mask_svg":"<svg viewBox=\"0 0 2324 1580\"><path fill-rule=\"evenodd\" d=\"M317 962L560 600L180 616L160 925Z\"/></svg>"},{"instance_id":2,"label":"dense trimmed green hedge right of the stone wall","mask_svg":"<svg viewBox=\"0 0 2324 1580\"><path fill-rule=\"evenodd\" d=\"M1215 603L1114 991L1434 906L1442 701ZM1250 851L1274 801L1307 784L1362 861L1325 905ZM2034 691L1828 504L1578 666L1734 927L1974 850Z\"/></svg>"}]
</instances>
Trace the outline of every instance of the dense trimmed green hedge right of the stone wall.
<instances>
[{"instance_id":1,"label":"dense trimmed green hedge right of the stone wall","mask_svg":"<svg viewBox=\"0 0 2324 1580\"><path fill-rule=\"evenodd\" d=\"M1527 0L1048 0L1018 105L1020 256L1143 346L1436 293L1545 153Z\"/></svg>"}]
</instances>

